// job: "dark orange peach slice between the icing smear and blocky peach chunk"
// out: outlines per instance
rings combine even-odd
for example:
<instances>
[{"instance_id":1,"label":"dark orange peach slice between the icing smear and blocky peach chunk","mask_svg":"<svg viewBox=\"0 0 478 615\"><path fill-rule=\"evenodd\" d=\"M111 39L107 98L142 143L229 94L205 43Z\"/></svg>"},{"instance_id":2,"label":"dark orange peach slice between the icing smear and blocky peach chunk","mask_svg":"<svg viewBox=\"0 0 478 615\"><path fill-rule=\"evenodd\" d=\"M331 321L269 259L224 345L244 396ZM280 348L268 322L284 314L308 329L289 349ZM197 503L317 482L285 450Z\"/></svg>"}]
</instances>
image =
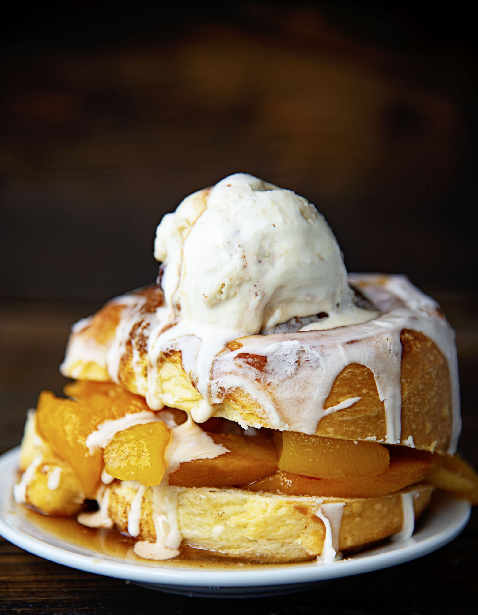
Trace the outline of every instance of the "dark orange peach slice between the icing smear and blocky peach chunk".
<instances>
[{"instance_id":1,"label":"dark orange peach slice between the icing smear and blocky peach chunk","mask_svg":"<svg viewBox=\"0 0 478 615\"><path fill-rule=\"evenodd\" d=\"M195 459L181 463L169 477L180 487L229 487L247 485L277 470L274 443L260 435L209 434L216 444L230 452L215 459Z\"/></svg>"}]
</instances>

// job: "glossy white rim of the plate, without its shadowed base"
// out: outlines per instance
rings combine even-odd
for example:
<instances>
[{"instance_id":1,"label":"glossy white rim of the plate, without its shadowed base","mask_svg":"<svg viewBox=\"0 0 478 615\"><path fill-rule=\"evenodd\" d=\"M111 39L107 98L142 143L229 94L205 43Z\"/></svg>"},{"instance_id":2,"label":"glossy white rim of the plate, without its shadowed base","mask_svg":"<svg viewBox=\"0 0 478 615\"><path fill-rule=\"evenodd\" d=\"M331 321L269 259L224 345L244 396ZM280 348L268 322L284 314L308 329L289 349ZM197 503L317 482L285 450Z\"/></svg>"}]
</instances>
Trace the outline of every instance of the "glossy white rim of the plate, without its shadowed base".
<instances>
[{"instance_id":1,"label":"glossy white rim of the plate, without its shadowed base","mask_svg":"<svg viewBox=\"0 0 478 615\"><path fill-rule=\"evenodd\" d=\"M70 568L102 576L125 579L127 581L146 582L160 586L161 584L186 587L265 587L272 585L293 585L296 583L328 581L345 576L354 576L378 569L389 568L418 557L427 555L439 549L458 536L468 523L471 514L471 504L463 499L449 496L446 500L452 505L456 517L445 524L442 530L432 536L416 541L415 536L407 539L401 547L382 553L357 554L351 558L337 561L330 565L319 565L316 562L261 566L260 569L233 570L194 570L167 566L154 566L121 562L104 558L100 553L96 557L74 552L65 547L49 544L41 538L34 538L28 533L10 525L5 517L15 515L11 506L11 488L14 483L14 472L20 447L17 446L0 456L0 535L17 547L38 557L45 558ZM436 513L438 514L438 513ZM31 525L34 526L32 523ZM420 531L418 531L418 537ZM378 547L380 549L380 547Z\"/></svg>"}]
</instances>

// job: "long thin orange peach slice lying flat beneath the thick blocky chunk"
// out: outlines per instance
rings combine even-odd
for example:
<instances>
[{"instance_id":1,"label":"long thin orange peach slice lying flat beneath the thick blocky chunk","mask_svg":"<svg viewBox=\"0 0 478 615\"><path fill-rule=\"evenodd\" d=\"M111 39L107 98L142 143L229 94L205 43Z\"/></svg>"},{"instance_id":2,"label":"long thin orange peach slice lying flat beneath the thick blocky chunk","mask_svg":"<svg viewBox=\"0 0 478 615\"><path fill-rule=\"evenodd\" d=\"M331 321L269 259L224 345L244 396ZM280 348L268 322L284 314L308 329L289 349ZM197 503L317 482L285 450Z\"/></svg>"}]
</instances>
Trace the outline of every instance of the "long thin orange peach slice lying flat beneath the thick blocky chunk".
<instances>
[{"instance_id":1,"label":"long thin orange peach slice lying flat beneath the thick blocky chunk","mask_svg":"<svg viewBox=\"0 0 478 615\"><path fill-rule=\"evenodd\" d=\"M391 459L390 467L383 474L353 478L309 478L277 472L258 480L244 489L271 491L292 496L327 496L336 498L379 498L408 485L419 483L429 470L429 463L420 459Z\"/></svg>"}]
</instances>

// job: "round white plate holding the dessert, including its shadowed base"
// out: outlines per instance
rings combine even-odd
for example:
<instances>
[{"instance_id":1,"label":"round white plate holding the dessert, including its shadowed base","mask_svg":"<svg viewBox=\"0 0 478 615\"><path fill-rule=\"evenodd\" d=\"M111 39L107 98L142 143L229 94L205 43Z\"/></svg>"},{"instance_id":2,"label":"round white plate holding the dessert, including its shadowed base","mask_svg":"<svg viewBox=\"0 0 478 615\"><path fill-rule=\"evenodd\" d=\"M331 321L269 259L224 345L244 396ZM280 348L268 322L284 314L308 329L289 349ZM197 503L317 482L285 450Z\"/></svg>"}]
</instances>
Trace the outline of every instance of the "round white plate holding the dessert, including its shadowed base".
<instances>
[{"instance_id":1,"label":"round white plate holding the dessert, including its shadowed base","mask_svg":"<svg viewBox=\"0 0 478 615\"><path fill-rule=\"evenodd\" d=\"M332 579L367 573L414 560L444 546L468 522L470 505L449 494L438 494L418 523L415 534L402 542L384 542L330 565L317 563L289 565L225 566L194 569L190 566L146 561L129 562L70 544L35 525L28 515L19 514L12 501L17 480L18 448L0 457L0 534L18 547L39 557L71 568L128 579L163 592L217 598L247 598L280 595L311 589ZM16 509L16 510L15 510Z\"/></svg>"}]
</instances>

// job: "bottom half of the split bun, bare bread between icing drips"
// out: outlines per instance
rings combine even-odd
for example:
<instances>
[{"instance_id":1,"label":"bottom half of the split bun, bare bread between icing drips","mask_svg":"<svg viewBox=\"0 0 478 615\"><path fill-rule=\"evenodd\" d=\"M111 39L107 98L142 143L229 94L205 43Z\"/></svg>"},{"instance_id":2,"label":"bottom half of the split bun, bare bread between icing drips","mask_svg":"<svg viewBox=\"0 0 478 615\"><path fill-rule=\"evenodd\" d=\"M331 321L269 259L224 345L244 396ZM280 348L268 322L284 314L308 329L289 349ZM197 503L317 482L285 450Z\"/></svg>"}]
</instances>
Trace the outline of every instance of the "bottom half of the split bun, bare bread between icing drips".
<instances>
[{"instance_id":1,"label":"bottom half of the split bun, bare bread between icing drips","mask_svg":"<svg viewBox=\"0 0 478 615\"><path fill-rule=\"evenodd\" d=\"M111 485L108 512L116 527L127 531L137 483ZM432 486L420 483L388 496L370 499L312 498L252 493L241 489L178 488L178 525L185 544L220 550L229 557L306 560L322 552L325 526L316 516L320 504L345 502L340 550L357 549L399 532L403 525L401 494L415 492L415 518L428 506ZM141 502L138 539L154 542L152 490ZM198 519L201 520L198 523Z\"/></svg>"}]
</instances>

